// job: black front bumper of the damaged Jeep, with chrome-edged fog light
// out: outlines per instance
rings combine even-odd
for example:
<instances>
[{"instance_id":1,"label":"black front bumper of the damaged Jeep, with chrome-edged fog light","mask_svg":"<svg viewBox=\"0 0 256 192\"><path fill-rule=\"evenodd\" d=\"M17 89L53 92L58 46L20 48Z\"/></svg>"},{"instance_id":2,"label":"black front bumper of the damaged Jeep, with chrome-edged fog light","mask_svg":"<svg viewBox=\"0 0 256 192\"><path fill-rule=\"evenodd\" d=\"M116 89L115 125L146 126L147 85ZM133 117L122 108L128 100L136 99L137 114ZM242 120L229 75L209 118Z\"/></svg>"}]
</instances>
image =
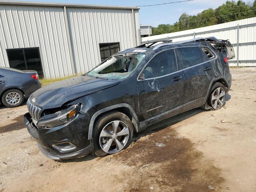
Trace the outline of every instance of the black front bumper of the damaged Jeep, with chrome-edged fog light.
<instances>
[{"instance_id":1,"label":"black front bumper of the damaged Jeep, with chrome-edged fog light","mask_svg":"<svg viewBox=\"0 0 256 192\"><path fill-rule=\"evenodd\" d=\"M37 128L29 113L23 116L28 132L38 143L40 151L53 160L86 156L94 150L93 140L88 140L88 123L83 114L70 122L52 128Z\"/></svg>"}]
</instances>

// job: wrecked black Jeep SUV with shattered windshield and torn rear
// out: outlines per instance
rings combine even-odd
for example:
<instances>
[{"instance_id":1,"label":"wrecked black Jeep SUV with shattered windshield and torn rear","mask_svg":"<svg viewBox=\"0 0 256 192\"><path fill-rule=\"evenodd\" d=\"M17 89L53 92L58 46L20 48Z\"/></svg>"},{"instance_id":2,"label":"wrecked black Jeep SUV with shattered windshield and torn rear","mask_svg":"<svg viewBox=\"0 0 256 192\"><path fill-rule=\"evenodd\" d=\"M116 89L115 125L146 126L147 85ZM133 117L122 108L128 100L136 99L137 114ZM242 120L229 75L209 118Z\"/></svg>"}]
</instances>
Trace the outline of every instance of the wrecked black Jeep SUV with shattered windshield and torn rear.
<instances>
[{"instance_id":1,"label":"wrecked black Jeep SUV with shattered windshield and torn rear","mask_svg":"<svg viewBox=\"0 0 256 192\"><path fill-rule=\"evenodd\" d=\"M24 121L54 160L114 154L150 124L192 108L220 109L232 58L230 42L214 37L143 44L40 88L27 102Z\"/></svg>"}]
</instances>

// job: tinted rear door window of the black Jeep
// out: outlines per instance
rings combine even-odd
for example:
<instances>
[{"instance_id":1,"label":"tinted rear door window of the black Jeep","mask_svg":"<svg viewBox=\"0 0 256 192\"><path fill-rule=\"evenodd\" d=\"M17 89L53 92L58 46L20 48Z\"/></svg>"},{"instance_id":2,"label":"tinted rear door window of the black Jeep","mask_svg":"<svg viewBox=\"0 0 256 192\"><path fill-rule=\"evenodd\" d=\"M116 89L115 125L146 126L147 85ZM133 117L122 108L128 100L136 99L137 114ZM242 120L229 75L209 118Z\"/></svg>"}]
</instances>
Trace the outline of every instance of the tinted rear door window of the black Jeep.
<instances>
[{"instance_id":1,"label":"tinted rear door window of the black Jeep","mask_svg":"<svg viewBox=\"0 0 256 192\"><path fill-rule=\"evenodd\" d=\"M177 49L182 60L183 68L192 67L204 62L202 52L199 47L182 47Z\"/></svg>"}]
</instances>

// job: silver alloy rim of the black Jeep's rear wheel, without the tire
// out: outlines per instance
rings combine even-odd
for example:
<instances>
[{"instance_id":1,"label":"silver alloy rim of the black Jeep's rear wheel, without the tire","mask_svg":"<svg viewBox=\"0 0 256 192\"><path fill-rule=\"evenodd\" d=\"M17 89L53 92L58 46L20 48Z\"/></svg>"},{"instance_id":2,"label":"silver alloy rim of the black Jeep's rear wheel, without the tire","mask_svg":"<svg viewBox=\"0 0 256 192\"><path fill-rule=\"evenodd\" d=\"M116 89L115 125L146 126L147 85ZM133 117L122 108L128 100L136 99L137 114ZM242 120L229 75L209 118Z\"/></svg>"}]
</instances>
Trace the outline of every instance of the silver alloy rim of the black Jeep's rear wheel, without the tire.
<instances>
[{"instance_id":1,"label":"silver alloy rim of the black Jeep's rear wheel, without the tire","mask_svg":"<svg viewBox=\"0 0 256 192\"><path fill-rule=\"evenodd\" d=\"M211 98L212 108L215 110L220 109L224 104L225 96L225 90L222 87L216 88Z\"/></svg>"}]
</instances>

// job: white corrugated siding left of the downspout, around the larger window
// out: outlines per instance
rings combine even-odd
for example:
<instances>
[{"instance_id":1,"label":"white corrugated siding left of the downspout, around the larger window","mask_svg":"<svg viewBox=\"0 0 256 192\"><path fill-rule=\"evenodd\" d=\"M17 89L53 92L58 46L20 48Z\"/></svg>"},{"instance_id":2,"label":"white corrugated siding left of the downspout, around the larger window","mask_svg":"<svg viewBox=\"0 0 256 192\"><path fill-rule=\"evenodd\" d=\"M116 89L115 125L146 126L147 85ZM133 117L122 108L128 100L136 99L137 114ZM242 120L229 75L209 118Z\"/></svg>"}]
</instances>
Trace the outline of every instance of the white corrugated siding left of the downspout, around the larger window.
<instances>
[{"instance_id":1,"label":"white corrugated siding left of the downspout, around the larger window","mask_svg":"<svg viewBox=\"0 0 256 192\"><path fill-rule=\"evenodd\" d=\"M39 47L46 78L72 75L63 7L0 5L0 66L6 49Z\"/></svg>"}]
</instances>

